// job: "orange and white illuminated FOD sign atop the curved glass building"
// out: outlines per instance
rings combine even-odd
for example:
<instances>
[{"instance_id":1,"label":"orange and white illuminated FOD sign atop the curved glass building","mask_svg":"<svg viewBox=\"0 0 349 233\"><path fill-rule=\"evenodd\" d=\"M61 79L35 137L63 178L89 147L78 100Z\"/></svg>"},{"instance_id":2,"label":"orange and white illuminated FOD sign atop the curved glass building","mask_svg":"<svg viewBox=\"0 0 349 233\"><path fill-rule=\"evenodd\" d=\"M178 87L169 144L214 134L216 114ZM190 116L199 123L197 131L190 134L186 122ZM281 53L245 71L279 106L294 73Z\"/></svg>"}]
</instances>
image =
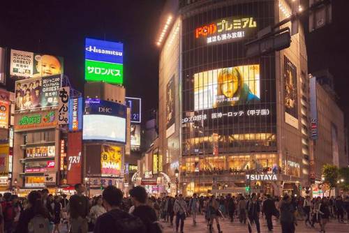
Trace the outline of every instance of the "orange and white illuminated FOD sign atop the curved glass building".
<instances>
[{"instance_id":1,"label":"orange and white illuminated FOD sign atop the curved glass building","mask_svg":"<svg viewBox=\"0 0 349 233\"><path fill-rule=\"evenodd\" d=\"M253 17L225 18L195 29L195 38L205 38L207 44L225 43L244 38L255 27Z\"/></svg>"}]
</instances>

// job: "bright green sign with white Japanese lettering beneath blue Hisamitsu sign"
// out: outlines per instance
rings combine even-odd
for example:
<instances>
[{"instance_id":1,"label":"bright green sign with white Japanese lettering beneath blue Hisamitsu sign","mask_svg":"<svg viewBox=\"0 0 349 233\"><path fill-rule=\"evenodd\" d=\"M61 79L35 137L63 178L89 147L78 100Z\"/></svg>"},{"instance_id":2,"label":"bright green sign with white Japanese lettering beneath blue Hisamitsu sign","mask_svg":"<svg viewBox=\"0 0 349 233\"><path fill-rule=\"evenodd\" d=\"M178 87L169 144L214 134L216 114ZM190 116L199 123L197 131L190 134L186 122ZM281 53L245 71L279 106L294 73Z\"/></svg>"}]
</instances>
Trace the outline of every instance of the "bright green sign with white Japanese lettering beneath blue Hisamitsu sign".
<instances>
[{"instance_id":1,"label":"bright green sign with white Japanese lettering beneath blue Hisamitsu sign","mask_svg":"<svg viewBox=\"0 0 349 233\"><path fill-rule=\"evenodd\" d=\"M85 60L85 80L122 84L124 69L122 64Z\"/></svg>"}]
</instances>

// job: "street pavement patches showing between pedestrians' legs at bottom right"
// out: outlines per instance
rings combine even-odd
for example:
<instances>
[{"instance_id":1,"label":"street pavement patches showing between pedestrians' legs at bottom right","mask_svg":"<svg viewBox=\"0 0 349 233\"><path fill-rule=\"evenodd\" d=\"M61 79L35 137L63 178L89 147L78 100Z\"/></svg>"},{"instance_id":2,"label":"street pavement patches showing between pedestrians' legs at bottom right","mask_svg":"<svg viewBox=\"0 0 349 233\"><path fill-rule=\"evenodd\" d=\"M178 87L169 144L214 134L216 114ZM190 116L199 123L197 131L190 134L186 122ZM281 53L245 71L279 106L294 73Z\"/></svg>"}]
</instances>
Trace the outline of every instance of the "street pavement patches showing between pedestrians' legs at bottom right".
<instances>
[{"instance_id":1,"label":"street pavement patches showing between pedestrians' legs at bottom right","mask_svg":"<svg viewBox=\"0 0 349 233\"><path fill-rule=\"evenodd\" d=\"M174 220L175 223L175 220ZM171 227L169 223L163 223L164 233L173 233L175 232L174 227ZM238 220L235 220L233 223L230 223L230 220L225 219L221 220L221 230L223 233L240 233L248 232L247 225L239 223ZM274 233L281 233L281 225L277 220L273 220ZM209 232L207 228L207 223L203 216L197 217L196 225L193 225L193 220L191 217L186 218L184 222L184 233L205 233ZM216 225L214 224L214 232L218 232ZM252 232L257 232L255 225L252 225ZM260 232L268 232L267 222L265 219L260 218ZM304 224L304 221L299 221L296 226L296 232L320 232L320 225L315 224L315 227L308 227ZM338 223L336 220L330 220L326 225L326 232L328 233L343 233L349 232L349 223Z\"/></svg>"}]
</instances>

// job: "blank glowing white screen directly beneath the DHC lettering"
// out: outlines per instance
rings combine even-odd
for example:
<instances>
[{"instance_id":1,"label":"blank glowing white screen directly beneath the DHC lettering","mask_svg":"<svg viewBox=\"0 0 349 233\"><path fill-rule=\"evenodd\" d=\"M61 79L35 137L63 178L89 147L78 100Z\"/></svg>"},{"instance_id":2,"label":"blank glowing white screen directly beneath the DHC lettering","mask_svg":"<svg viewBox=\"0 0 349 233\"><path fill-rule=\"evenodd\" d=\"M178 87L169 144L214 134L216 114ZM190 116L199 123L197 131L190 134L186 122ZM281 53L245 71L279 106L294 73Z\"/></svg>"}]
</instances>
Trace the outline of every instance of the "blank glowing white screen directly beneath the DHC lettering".
<instances>
[{"instance_id":1,"label":"blank glowing white screen directly beneath the DHC lettering","mask_svg":"<svg viewBox=\"0 0 349 233\"><path fill-rule=\"evenodd\" d=\"M126 119L101 114L84 115L83 140L126 142Z\"/></svg>"}]
</instances>

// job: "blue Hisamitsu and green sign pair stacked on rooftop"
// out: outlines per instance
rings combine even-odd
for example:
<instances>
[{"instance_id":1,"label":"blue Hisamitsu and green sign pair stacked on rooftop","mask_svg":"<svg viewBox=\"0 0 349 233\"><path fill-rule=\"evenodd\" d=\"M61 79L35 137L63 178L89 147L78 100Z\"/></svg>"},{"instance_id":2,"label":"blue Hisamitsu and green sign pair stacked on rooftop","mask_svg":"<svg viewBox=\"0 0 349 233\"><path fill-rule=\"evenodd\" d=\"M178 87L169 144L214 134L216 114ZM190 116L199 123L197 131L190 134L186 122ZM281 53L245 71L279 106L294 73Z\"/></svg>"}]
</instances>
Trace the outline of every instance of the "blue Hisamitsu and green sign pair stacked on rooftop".
<instances>
[{"instance_id":1,"label":"blue Hisamitsu and green sign pair stacked on rooftop","mask_svg":"<svg viewBox=\"0 0 349 233\"><path fill-rule=\"evenodd\" d=\"M123 84L123 43L85 40L85 80Z\"/></svg>"}]
</instances>

